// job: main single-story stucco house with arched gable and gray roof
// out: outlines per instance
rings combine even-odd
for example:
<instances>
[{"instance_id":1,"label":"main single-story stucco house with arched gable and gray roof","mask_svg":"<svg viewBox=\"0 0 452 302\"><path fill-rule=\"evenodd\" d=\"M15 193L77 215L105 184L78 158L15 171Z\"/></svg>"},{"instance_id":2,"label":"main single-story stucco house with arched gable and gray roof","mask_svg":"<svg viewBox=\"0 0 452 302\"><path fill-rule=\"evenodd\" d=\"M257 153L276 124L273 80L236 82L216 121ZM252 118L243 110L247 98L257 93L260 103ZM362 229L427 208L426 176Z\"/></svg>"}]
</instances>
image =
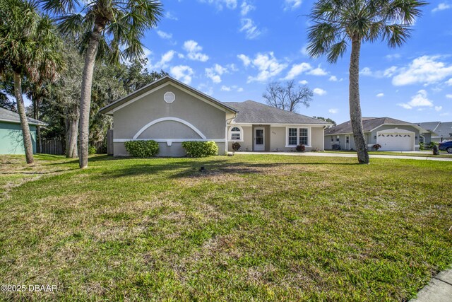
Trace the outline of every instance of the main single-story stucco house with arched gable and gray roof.
<instances>
[{"instance_id":1,"label":"main single-story stucco house with arched gable and gray roof","mask_svg":"<svg viewBox=\"0 0 452 302\"><path fill-rule=\"evenodd\" d=\"M248 100L222 103L170 76L165 76L100 110L113 117L113 154L128 156L124 143L157 141L158 156L184 156L183 141L215 141L219 153L290 151L304 144L323 150L328 122L271 108Z\"/></svg>"}]
</instances>

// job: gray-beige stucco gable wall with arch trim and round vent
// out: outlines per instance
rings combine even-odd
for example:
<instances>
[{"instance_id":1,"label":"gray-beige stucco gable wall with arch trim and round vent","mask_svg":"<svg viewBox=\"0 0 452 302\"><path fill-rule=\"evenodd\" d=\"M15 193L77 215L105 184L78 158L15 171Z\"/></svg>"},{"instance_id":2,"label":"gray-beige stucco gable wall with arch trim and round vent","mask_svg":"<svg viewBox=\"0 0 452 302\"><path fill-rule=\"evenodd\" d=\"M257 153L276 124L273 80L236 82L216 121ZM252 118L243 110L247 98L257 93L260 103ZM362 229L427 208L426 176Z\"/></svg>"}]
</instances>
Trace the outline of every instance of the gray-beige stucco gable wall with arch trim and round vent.
<instances>
[{"instance_id":1,"label":"gray-beige stucco gable wall with arch trim and round vent","mask_svg":"<svg viewBox=\"0 0 452 302\"><path fill-rule=\"evenodd\" d=\"M166 103L163 95L172 92L176 95L173 103ZM170 83L158 88L153 93L143 96L114 112L114 140L133 139L146 124L164 117L174 117L192 124L209 139L224 140L226 112L211 103L186 93ZM201 139L193 129L176 121L163 121L153 124L138 139ZM185 155L180 142L172 146L160 144L159 156ZM220 154L225 153L225 143L217 142ZM114 143L114 156L128 155L124 143Z\"/></svg>"}]
</instances>

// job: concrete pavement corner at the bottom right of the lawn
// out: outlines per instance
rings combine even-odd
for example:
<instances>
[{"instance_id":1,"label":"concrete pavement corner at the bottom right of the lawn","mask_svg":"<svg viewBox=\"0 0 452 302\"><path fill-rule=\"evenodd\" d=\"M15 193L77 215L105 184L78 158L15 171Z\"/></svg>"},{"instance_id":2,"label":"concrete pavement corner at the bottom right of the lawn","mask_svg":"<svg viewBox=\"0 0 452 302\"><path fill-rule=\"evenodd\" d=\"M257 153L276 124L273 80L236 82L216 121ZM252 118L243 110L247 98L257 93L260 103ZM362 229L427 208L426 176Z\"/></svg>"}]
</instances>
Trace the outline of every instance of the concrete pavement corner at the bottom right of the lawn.
<instances>
[{"instance_id":1,"label":"concrete pavement corner at the bottom right of the lawn","mask_svg":"<svg viewBox=\"0 0 452 302\"><path fill-rule=\"evenodd\" d=\"M451 302L452 269L440 272L410 302Z\"/></svg>"}]
</instances>

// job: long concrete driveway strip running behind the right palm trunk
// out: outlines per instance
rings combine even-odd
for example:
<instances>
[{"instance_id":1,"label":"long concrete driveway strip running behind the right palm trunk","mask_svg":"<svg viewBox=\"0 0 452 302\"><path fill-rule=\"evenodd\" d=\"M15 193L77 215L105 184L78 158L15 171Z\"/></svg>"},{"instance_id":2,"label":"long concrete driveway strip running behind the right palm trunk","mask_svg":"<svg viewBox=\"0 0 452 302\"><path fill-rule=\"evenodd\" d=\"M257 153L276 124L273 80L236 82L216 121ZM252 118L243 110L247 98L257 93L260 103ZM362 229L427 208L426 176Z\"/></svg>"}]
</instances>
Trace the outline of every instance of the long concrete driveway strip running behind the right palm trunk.
<instances>
[{"instance_id":1,"label":"long concrete driveway strip running behind the right palm trunk","mask_svg":"<svg viewBox=\"0 0 452 302\"><path fill-rule=\"evenodd\" d=\"M269 155L289 155L289 156L332 156L332 157L352 157L357 155L353 153L331 153L331 152L236 152L236 154L269 154ZM418 161L451 161L452 158L446 157L427 157L422 156L403 156L403 155L377 155L371 154L370 158L395 158L395 159L415 159Z\"/></svg>"}]
</instances>

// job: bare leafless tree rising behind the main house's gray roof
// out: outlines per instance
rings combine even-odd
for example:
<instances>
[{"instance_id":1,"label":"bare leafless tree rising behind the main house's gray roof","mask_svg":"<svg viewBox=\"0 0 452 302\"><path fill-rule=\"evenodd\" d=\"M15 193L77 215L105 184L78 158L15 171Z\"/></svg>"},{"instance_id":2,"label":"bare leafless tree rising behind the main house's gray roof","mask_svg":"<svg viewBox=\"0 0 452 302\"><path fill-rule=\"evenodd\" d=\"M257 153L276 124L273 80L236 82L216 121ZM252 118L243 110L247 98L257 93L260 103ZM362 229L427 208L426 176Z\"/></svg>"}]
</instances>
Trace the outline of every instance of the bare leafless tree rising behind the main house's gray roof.
<instances>
[{"instance_id":1,"label":"bare leafless tree rising behind the main house's gray roof","mask_svg":"<svg viewBox=\"0 0 452 302\"><path fill-rule=\"evenodd\" d=\"M262 94L262 97L272 107L295 112L299 105L309 107L312 95L314 93L308 86L295 86L295 82L291 80L284 84L280 82L268 83L266 92Z\"/></svg>"}]
</instances>

